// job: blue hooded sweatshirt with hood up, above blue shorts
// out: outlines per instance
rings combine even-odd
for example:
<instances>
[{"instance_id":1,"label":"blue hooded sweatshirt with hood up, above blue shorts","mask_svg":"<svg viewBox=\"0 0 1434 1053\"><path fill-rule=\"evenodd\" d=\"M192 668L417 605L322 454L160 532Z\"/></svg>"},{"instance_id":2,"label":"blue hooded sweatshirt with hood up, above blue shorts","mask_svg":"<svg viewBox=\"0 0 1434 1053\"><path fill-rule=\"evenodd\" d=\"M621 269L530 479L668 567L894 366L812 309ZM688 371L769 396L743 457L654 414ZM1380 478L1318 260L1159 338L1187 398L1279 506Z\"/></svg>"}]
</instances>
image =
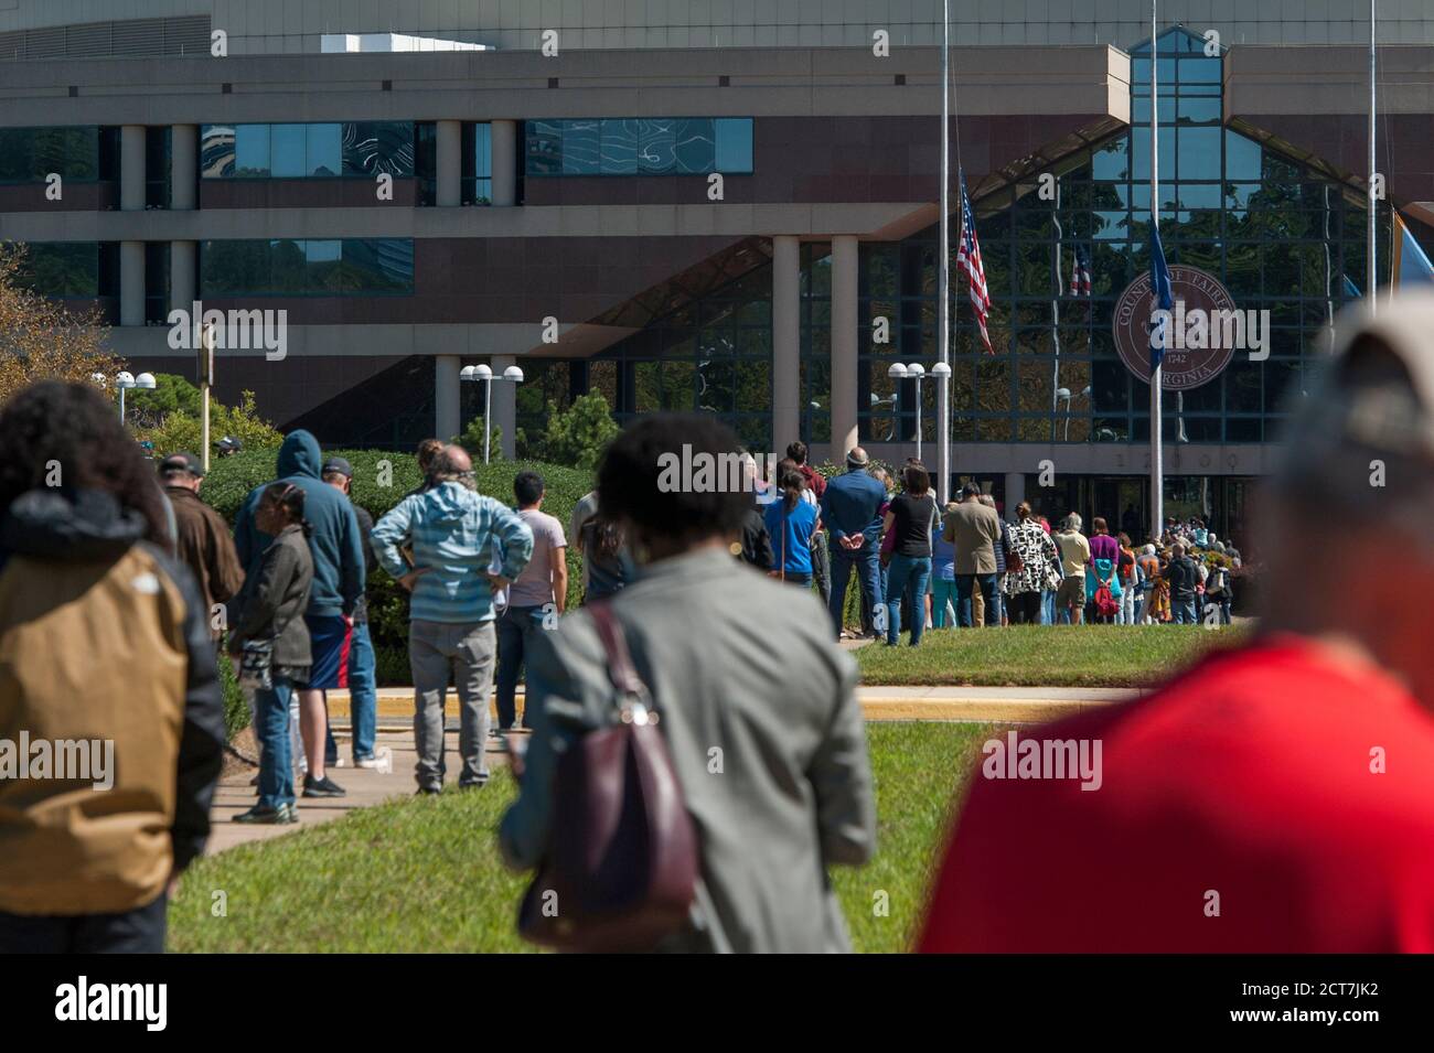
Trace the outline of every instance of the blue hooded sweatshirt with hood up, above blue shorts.
<instances>
[{"instance_id":1,"label":"blue hooded sweatshirt with hood up, above blue shorts","mask_svg":"<svg viewBox=\"0 0 1434 1053\"><path fill-rule=\"evenodd\" d=\"M333 617L353 615L354 605L363 596L364 559L353 504L344 493L320 477L323 464L318 440L303 428L291 431L278 448L278 481L293 483L304 491L304 519L314 527L308 539L308 550L314 556L314 583L308 593L308 610L304 613ZM254 524L254 513L267 486L268 483L250 491L234 523L234 546L248 574L258 570L260 557L274 540Z\"/></svg>"}]
</instances>

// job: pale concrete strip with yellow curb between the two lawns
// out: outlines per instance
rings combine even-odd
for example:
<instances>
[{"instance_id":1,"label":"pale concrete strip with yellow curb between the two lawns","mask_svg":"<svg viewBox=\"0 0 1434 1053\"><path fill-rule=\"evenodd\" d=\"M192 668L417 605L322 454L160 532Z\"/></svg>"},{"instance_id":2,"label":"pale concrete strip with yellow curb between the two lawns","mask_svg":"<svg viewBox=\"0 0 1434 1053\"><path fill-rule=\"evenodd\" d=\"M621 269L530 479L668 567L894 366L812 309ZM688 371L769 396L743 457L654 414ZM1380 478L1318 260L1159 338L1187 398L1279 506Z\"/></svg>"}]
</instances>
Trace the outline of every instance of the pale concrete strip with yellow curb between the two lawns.
<instances>
[{"instance_id":1,"label":"pale concrete strip with yellow curb between the two lawns","mask_svg":"<svg viewBox=\"0 0 1434 1053\"><path fill-rule=\"evenodd\" d=\"M868 721L1011 721L1017 723L1054 721L1147 693L1136 688L858 688L856 696ZM518 692L518 711L523 708ZM445 711L457 718L457 692L449 691ZM496 709L493 711L496 716ZM348 692L328 692L328 716L336 726L348 726ZM379 689L379 726L412 726L413 689Z\"/></svg>"}]
</instances>

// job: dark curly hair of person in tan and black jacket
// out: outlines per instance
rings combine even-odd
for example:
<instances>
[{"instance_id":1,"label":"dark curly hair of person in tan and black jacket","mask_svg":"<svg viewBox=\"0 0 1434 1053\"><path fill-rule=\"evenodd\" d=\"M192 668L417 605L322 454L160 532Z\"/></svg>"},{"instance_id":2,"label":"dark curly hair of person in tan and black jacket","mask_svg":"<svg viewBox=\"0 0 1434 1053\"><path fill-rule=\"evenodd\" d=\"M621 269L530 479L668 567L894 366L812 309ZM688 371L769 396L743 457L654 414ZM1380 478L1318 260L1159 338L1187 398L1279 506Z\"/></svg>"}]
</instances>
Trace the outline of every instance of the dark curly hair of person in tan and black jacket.
<instances>
[{"instance_id":1,"label":"dark curly hair of person in tan and black jacket","mask_svg":"<svg viewBox=\"0 0 1434 1053\"><path fill-rule=\"evenodd\" d=\"M49 463L65 489L103 490L143 517L145 540L169 546L169 516L153 468L92 385L43 380L0 408L0 511L47 486Z\"/></svg>"}]
</instances>

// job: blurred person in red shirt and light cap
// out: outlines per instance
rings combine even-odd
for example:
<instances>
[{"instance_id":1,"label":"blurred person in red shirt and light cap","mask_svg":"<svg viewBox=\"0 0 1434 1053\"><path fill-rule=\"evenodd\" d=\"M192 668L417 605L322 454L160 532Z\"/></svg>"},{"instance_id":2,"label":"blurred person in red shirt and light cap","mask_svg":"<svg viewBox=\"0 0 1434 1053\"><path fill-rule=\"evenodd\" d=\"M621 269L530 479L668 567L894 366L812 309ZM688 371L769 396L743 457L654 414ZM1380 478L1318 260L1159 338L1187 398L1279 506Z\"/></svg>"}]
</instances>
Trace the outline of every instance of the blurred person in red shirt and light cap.
<instances>
[{"instance_id":1,"label":"blurred person in red shirt and light cap","mask_svg":"<svg viewBox=\"0 0 1434 1053\"><path fill-rule=\"evenodd\" d=\"M1434 294L1347 327L1269 480L1259 636L988 742L922 951L1434 951Z\"/></svg>"}]
</instances>

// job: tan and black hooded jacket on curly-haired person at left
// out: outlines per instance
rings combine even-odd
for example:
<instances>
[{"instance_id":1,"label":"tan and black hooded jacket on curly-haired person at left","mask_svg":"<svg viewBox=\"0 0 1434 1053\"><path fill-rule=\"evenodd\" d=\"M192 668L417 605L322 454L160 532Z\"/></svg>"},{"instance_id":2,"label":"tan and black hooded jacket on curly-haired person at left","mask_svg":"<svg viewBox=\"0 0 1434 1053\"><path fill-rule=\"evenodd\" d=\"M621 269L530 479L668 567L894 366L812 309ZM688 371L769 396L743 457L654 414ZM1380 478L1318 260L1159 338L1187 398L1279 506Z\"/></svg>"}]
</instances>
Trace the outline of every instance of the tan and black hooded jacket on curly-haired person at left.
<instances>
[{"instance_id":1,"label":"tan and black hooded jacket on curly-haired person at left","mask_svg":"<svg viewBox=\"0 0 1434 1053\"><path fill-rule=\"evenodd\" d=\"M24 762L0 751L3 911L142 907L208 840L209 612L143 533L99 490L32 490L0 520L0 742L29 741Z\"/></svg>"}]
</instances>

